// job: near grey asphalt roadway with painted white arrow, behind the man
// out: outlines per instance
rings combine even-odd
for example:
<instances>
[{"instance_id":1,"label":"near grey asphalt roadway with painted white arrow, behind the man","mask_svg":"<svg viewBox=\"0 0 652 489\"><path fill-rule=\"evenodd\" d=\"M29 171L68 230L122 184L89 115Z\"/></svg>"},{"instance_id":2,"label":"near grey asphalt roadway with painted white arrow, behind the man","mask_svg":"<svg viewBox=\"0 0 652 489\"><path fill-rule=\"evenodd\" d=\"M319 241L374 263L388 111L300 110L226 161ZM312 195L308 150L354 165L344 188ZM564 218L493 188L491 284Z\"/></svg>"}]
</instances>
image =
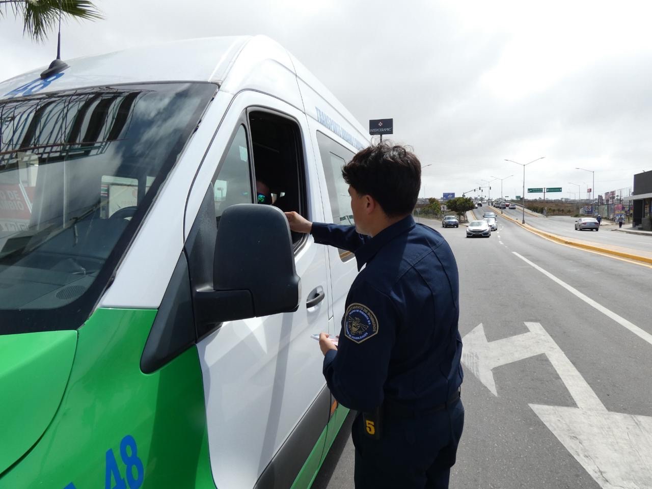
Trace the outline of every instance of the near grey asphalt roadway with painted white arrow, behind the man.
<instances>
[{"instance_id":1,"label":"near grey asphalt roadway with painted white arrow, behind the man","mask_svg":"<svg viewBox=\"0 0 652 489\"><path fill-rule=\"evenodd\" d=\"M652 488L651 267L505 220L489 239L430 224L460 271L466 425L451 487ZM349 434L314 488L353 488Z\"/></svg>"}]
</instances>

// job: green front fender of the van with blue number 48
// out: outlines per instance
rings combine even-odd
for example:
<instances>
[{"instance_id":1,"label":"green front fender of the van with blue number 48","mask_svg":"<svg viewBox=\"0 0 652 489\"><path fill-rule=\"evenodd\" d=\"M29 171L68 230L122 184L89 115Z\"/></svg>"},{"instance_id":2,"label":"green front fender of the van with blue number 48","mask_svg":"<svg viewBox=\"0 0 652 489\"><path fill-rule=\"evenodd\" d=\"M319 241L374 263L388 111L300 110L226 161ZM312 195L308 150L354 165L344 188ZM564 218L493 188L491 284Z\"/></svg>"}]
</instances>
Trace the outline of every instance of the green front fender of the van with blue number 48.
<instances>
[{"instance_id":1,"label":"green front fender of the van with blue number 48","mask_svg":"<svg viewBox=\"0 0 652 489\"><path fill-rule=\"evenodd\" d=\"M196 347L140 370L155 316L98 309L78 330L61 406L1 489L215 488Z\"/></svg>"}]
</instances>

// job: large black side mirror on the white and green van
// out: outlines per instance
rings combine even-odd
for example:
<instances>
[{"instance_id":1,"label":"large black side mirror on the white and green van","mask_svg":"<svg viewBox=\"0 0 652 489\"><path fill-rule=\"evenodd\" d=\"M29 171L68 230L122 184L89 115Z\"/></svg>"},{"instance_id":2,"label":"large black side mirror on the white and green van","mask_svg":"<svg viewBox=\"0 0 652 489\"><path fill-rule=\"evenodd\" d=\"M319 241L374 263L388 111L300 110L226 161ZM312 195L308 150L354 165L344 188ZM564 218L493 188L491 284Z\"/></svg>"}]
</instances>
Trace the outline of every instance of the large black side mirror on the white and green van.
<instances>
[{"instance_id":1,"label":"large black side mirror on the white and green van","mask_svg":"<svg viewBox=\"0 0 652 489\"><path fill-rule=\"evenodd\" d=\"M300 297L284 213L260 204L225 209L215 240L213 286L194 293L196 321L218 324L295 311Z\"/></svg>"}]
</instances>

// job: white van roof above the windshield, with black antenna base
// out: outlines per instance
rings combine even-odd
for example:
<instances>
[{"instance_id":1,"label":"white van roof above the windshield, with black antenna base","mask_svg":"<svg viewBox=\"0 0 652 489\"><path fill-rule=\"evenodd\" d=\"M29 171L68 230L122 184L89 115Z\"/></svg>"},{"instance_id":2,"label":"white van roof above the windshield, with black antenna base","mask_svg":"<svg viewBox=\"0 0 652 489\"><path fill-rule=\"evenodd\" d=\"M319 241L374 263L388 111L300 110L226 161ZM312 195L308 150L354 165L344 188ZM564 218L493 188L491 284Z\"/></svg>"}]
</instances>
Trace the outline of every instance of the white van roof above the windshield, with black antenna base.
<instances>
[{"instance_id":1,"label":"white van roof above the windshield, with black antenna base","mask_svg":"<svg viewBox=\"0 0 652 489\"><path fill-rule=\"evenodd\" d=\"M213 82L220 85L220 91L234 94L243 89L266 92L273 83L286 90L304 83L314 92L304 94L312 105L318 96L323 100L319 105L328 104L331 116L340 115L358 133L356 137L368 141L366 130L333 93L285 48L266 36L177 40L64 61L68 68L56 80L51 77L50 82L40 80L47 67L0 82L0 100L125 83ZM304 108L298 92L288 102ZM314 106L307 102L306 105L306 113L318 119Z\"/></svg>"}]
</instances>

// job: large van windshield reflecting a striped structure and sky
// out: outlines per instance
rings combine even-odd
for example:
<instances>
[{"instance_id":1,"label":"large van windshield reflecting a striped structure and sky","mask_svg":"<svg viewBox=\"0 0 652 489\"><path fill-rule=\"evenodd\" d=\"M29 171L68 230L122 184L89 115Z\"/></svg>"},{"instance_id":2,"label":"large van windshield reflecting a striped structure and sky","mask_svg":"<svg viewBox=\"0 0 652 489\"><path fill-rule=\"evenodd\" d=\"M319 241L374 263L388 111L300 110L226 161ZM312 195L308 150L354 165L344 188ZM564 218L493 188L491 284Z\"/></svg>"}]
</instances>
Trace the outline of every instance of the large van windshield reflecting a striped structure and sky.
<instances>
[{"instance_id":1,"label":"large van windshield reflecting a striped structure and sky","mask_svg":"<svg viewBox=\"0 0 652 489\"><path fill-rule=\"evenodd\" d=\"M153 83L0 100L0 334L87 319L215 91Z\"/></svg>"}]
</instances>

